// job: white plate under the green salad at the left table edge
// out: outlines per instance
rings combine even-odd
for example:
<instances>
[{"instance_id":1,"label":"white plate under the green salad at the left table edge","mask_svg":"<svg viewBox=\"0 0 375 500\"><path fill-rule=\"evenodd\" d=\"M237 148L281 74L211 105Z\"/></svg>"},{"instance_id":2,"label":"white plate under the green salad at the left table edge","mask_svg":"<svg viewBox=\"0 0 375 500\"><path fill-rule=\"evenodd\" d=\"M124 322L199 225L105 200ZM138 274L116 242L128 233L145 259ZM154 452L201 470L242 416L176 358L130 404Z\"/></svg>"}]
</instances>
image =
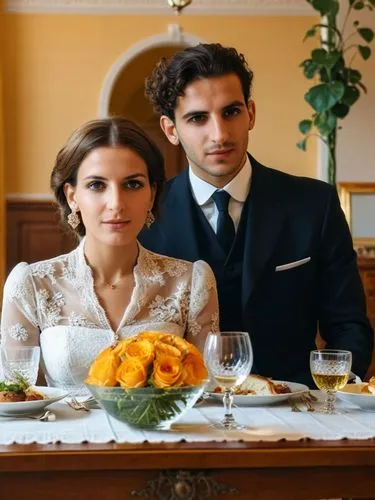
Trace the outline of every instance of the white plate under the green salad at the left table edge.
<instances>
[{"instance_id":1,"label":"white plate under the green salad at the left table edge","mask_svg":"<svg viewBox=\"0 0 375 500\"><path fill-rule=\"evenodd\" d=\"M47 399L38 399L36 401L17 401L14 403L0 402L0 416L12 417L17 415L32 415L33 413L40 412L48 405L55 403L68 395L64 389L58 389L57 387L36 386L35 389L47 396Z\"/></svg>"}]
</instances>

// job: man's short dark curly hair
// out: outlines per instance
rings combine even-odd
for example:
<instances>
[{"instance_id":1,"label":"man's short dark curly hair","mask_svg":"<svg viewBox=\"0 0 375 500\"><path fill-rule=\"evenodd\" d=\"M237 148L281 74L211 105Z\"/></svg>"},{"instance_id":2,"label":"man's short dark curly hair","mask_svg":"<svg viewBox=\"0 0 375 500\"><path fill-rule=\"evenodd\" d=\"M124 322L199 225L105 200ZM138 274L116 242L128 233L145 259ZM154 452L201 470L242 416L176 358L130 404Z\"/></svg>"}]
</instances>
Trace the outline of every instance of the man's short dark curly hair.
<instances>
[{"instance_id":1,"label":"man's short dark curly hair","mask_svg":"<svg viewBox=\"0 0 375 500\"><path fill-rule=\"evenodd\" d=\"M248 103L253 72L243 54L219 43L201 43L177 52L170 59L162 58L151 76L146 78L145 94L158 114L174 121L177 98L184 95L187 85L201 78L230 73L240 79L245 102Z\"/></svg>"}]
</instances>

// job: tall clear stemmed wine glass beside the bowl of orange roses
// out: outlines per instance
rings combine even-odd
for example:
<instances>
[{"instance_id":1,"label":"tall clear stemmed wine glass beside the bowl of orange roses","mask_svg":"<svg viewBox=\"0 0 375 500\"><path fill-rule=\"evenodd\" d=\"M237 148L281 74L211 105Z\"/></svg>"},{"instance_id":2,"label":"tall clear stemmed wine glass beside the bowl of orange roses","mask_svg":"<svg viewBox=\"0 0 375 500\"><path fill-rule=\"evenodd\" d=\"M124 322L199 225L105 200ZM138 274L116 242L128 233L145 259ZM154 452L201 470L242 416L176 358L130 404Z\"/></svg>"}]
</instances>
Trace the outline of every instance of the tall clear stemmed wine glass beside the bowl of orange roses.
<instances>
[{"instance_id":1,"label":"tall clear stemmed wine glass beside the bowl of orange roses","mask_svg":"<svg viewBox=\"0 0 375 500\"><path fill-rule=\"evenodd\" d=\"M205 362L210 375L224 389L225 415L214 427L240 429L232 415L233 390L249 375L253 365L253 350L247 332L216 332L207 336Z\"/></svg>"}]
</instances>

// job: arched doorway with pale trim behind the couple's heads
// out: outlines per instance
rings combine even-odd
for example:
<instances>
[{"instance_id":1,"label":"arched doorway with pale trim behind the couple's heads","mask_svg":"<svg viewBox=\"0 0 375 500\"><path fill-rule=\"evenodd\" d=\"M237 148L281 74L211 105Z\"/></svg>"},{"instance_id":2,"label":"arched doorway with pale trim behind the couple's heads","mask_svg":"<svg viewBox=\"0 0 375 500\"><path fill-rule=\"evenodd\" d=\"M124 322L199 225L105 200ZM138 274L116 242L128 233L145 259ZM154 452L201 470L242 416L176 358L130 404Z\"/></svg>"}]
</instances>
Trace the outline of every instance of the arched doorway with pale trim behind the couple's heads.
<instances>
[{"instance_id":1,"label":"arched doorway with pale trim behind the couple's heads","mask_svg":"<svg viewBox=\"0 0 375 500\"><path fill-rule=\"evenodd\" d=\"M100 95L101 117L126 116L140 124L155 141L165 159L167 178L181 172L187 161L181 146L172 146L160 129L159 117L144 96L144 81L161 57L171 57L178 50L200 41L178 29L172 30L170 35L143 40L125 52L111 68Z\"/></svg>"}]
</instances>

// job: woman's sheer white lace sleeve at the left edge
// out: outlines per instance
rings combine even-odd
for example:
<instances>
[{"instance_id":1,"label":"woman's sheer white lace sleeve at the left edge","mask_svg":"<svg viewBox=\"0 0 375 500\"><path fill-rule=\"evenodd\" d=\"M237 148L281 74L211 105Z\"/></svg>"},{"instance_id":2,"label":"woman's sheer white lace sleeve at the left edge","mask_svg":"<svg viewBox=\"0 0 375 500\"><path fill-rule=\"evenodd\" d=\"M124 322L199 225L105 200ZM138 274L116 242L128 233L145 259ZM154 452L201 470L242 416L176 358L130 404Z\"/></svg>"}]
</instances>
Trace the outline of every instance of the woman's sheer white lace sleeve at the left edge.
<instances>
[{"instance_id":1,"label":"woman's sheer white lace sleeve at the left edge","mask_svg":"<svg viewBox=\"0 0 375 500\"><path fill-rule=\"evenodd\" d=\"M11 271L4 286L1 342L7 345L38 345L36 310L30 268L21 262Z\"/></svg>"}]
</instances>

